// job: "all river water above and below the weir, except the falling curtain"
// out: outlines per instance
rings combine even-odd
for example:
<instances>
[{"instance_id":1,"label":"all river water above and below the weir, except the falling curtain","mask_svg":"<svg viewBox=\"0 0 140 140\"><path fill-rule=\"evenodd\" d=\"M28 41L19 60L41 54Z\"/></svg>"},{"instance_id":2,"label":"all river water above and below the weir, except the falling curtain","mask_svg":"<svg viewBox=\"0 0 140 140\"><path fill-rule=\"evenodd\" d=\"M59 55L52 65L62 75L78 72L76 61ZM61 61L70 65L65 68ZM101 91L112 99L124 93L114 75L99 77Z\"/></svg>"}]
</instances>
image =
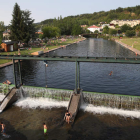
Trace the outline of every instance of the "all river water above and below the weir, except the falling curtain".
<instances>
[{"instance_id":1,"label":"all river water above and below the weir, except the falling curtain","mask_svg":"<svg viewBox=\"0 0 140 140\"><path fill-rule=\"evenodd\" d=\"M92 38L49 55L139 57L113 41ZM75 88L75 63L48 62L48 67L45 67L42 61L23 61L21 66L25 85ZM113 71L111 76L110 71ZM140 95L139 73L139 65L80 63L80 86L85 91ZM6 79L14 82L12 66L0 69L0 82ZM67 105L67 101L23 98L0 114L0 121L6 124L11 140L140 139L140 112L137 110L83 105L71 127L62 121ZM43 122L48 126L47 136L43 135ZM11 126L14 127L12 131ZM0 138L6 139L3 136Z\"/></svg>"}]
</instances>

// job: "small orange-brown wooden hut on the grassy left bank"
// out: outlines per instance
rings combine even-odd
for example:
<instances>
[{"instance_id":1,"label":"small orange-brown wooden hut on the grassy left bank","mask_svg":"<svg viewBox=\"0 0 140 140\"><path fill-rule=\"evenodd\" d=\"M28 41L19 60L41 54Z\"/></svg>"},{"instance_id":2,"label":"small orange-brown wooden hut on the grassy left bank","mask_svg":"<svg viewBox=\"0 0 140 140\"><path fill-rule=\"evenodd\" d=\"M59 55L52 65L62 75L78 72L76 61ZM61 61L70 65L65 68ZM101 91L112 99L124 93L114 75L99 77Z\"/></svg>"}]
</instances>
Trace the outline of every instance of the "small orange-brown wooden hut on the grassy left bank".
<instances>
[{"instance_id":1,"label":"small orange-brown wooden hut on the grassy left bank","mask_svg":"<svg viewBox=\"0 0 140 140\"><path fill-rule=\"evenodd\" d=\"M6 41L3 41L1 46L5 52L12 52L12 51L18 50L18 42L17 41L6 40Z\"/></svg>"}]
</instances>

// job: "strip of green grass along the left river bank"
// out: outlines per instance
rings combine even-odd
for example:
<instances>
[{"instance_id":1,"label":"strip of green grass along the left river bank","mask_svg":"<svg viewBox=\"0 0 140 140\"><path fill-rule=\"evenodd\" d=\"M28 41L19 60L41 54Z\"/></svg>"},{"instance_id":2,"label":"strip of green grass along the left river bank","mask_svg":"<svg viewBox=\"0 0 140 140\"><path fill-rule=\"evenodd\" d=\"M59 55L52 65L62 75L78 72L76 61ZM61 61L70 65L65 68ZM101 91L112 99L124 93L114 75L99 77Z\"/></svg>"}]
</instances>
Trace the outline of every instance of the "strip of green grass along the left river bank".
<instances>
[{"instance_id":1,"label":"strip of green grass along the left river bank","mask_svg":"<svg viewBox=\"0 0 140 140\"><path fill-rule=\"evenodd\" d=\"M44 45L43 47L29 47L30 49L29 48L24 48L24 49L20 49L20 53L21 53L21 55L31 55L31 53L33 53L33 52L52 50L52 49L58 48L59 46L71 44L71 43L74 43L74 42L77 42L77 41L80 41L80 40L82 40L82 38L67 39L64 42L54 40L56 43L52 43L53 41L51 41L52 45L47 45L47 46ZM1 52L0 53L0 55L14 55L14 54L18 55L18 51ZM11 60L0 59L0 64L4 64L4 63L10 62L10 61Z\"/></svg>"}]
</instances>

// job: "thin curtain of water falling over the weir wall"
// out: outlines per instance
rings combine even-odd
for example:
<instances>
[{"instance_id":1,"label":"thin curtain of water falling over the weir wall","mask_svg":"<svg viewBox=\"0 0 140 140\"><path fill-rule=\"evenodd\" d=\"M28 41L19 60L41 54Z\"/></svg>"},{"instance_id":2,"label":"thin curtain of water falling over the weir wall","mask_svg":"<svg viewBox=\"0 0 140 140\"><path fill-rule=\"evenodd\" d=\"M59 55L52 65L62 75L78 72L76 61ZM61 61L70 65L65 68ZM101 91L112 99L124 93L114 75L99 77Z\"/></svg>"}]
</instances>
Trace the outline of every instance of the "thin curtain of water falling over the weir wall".
<instances>
[{"instance_id":1,"label":"thin curtain of water falling over the weir wall","mask_svg":"<svg viewBox=\"0 0 140 140\"><path fill-rule=\"evenodd\" d=\"M5 95L12 89L13 86L0 85L0 94ZM21 86L17 92L17 100L19 98L49 98L57 101L69 101L73 90L43 88ZM82 101L86 104L94 106L105 106L124 110L140 110L140 96L97 93L97 92L82 92Z\"/></svg>"}]
</instances>

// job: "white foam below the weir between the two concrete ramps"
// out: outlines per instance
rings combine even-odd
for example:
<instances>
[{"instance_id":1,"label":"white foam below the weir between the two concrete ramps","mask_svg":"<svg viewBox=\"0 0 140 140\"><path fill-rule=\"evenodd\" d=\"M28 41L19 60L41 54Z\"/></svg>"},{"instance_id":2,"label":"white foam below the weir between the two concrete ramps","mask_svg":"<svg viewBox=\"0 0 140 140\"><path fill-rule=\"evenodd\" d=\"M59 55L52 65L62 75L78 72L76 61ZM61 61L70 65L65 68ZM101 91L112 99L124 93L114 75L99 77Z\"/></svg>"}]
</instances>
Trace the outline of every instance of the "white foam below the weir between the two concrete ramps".
<instances>
[{"instance_id":1,"label":"white foam below the weir between the two concrete ramps","mask_svg":"<svg viewBox=\"0 0 140 140\"><path fill-rule=\"evenodd\" d=\"M56 101L53 99L47 98L22 98L15 103L16 106L22 108L60 108L60 107L67 107L68 101Z\"/></svg>"}]
</instances>

